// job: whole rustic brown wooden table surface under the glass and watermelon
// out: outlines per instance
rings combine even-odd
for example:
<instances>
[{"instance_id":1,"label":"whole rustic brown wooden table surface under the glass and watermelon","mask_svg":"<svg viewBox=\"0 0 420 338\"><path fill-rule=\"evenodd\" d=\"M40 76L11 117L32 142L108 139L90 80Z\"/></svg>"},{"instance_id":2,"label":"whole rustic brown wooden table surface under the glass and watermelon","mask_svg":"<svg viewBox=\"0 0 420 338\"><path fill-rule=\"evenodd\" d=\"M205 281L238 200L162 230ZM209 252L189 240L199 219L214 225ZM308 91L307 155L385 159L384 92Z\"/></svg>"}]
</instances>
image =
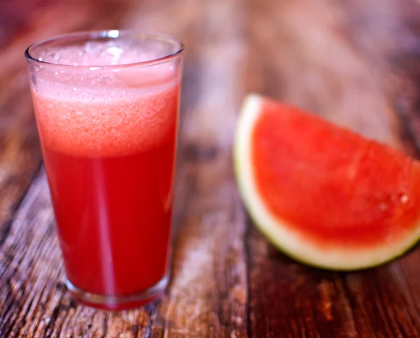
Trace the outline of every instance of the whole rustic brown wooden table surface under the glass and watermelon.
<instances>
[{"instance_id":1,"label":"whole rustic brown wooden table surface under the glass and watermelon","mask_svg":"<svg viewBox=\"0 0 420 338\"><path fill-rule=\"evenodd\" d=\"M172 281L119 313L64 286L23 58L40 38L111 27L186 44ZM0 337L420 337L419 251L364 272L297 264L248 220L231 165L251 91L419 155L419 3L2 1L0 33Z\"/></svg>"}]
</instances>

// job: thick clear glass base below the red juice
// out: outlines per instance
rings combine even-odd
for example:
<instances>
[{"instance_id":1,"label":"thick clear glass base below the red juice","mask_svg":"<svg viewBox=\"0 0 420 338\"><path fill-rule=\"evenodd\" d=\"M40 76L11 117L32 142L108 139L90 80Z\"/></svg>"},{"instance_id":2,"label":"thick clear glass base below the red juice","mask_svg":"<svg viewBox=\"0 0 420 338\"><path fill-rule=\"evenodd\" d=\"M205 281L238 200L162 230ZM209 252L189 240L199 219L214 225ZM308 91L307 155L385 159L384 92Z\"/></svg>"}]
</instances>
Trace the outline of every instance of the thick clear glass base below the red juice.
<instances>
[{"instance_id":1,"label":"thick clear glass base below the red juice","mask_svg":"<svg viewBox=\"0 0 420 338\"><path fill-rule=\"evenodd\" d=\"M69 279L66 279L66 286L74 299L81 304L104 310L127 310L142 307L154 300L158 300L165 293L168 281L169 277L165 276L151 288L133 295L121 296L88 293L74 286Z\"/></svg>"}]
</instances>

